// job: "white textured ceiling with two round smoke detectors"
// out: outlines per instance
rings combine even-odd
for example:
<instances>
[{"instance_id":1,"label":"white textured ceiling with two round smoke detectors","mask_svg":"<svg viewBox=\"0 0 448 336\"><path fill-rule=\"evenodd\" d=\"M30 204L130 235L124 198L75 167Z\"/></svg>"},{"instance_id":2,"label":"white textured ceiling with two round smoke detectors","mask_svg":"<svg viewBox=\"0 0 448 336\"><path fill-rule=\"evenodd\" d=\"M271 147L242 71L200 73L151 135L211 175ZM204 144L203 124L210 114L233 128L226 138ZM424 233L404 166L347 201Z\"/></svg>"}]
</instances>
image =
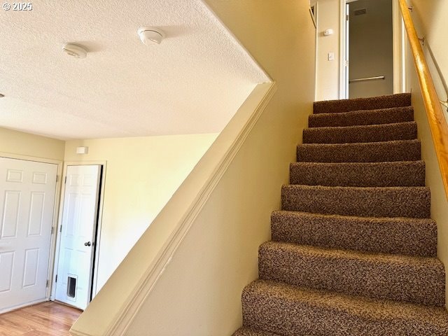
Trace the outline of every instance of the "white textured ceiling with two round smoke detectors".
<instances>
[{"instance_id":1,"label":"white textured ceiling with two round smoke detectors","mask_svg":"<svg viewBox=\"0 0 448 336\"><path fill-rule=\"evenodd\" d=\"M57 139L220 132L269 81L200 0L32 3L0 9L0 127ZM141 26L167 37L144 45ZM69 57L64 43L90 52Z\"/></svg>"}]
</instances>

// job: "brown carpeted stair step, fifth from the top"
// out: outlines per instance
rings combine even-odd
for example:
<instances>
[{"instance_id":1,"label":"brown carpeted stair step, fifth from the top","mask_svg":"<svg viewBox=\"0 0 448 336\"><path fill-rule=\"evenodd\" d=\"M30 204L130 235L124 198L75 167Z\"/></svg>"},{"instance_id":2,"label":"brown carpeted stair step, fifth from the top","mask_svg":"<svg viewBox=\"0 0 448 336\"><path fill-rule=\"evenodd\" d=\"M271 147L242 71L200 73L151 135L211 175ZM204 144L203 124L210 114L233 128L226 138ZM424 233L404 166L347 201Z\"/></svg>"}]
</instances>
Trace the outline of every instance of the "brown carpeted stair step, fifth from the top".
<instances>
[{"instance_id":1,"label":"brown carpeted stair step, fifth from the top","mask_svg":"<svg viewBox=\"0 0 448 336\"><path fill-rule=\"evenodd\" d=\"M424 186L425 162L293 162L289 179L307 186Z\"/></svg>"}]
</instances>

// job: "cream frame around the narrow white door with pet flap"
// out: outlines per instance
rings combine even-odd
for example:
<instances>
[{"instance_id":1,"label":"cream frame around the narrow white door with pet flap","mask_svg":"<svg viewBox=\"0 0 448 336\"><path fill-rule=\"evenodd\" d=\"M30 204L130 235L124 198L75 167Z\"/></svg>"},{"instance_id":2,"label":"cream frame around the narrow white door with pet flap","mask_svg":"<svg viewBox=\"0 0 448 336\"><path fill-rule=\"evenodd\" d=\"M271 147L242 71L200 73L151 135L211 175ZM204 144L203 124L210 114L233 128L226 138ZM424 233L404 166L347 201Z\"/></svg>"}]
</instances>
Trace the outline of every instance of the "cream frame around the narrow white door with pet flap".
<instances>
[{"instance_id":1,"label":"cream frame around the narrow white door with pet flap","mask_svg":"<svg viewBox=\"0 0 448 336\"><path fill-rule=\"evenodd\" d=\"M107 161L66 161L64 162L64 169L62 173L62 179L61 182L66 178L67 174L67 167L68 166L92 166L92 165L99 165L102 166L102 174L101 174L101 180L100 180L100 187L99 187L99 204L98 204L98 223L97 223L97 237L95 239L94 244L94 262L91 267L93 267L92 272L92 299L95 295L97 295L97 286L98 286L98 263L99 263L99 247L101 245L101 232L102 232L102 217L103 217L103 204L104 204L104 187L106 182L106 166ZM65 197L65 183L62 184L62 190L60 193L60 200L59 204L64 204L64 197ZM56 238L56 244L55 244L55 260L52 265L52 281L51 281L51 295L50 300L55 300L56 295L56 274L57 274L57 265L59 263L59 246L61 245L61 236L60 228L62 225L62 214L63 214L63 207L61 206L61 209L59 211L59 216L57 220L57 238Z\"/></svg>"}]
</instances>

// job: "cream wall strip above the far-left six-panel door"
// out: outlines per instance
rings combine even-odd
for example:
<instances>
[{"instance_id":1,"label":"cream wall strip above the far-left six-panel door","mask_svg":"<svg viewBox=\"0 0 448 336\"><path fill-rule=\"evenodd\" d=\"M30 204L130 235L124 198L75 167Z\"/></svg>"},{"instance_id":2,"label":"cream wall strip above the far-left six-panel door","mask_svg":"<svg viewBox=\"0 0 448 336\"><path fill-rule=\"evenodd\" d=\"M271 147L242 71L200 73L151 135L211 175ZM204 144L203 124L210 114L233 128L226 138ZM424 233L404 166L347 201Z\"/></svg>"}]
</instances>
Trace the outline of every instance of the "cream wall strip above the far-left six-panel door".
<instances>
[{"instance_id":1,"label":"cream wall strip above the far-left six-panel door","mask_svg":"<svg viewBox=\"0 0 448 336\"><path fill-rule=\"evenodd\" d=\"M0 152L64 160L64 141L0 127Z\"/></svg>"}]
</instances>

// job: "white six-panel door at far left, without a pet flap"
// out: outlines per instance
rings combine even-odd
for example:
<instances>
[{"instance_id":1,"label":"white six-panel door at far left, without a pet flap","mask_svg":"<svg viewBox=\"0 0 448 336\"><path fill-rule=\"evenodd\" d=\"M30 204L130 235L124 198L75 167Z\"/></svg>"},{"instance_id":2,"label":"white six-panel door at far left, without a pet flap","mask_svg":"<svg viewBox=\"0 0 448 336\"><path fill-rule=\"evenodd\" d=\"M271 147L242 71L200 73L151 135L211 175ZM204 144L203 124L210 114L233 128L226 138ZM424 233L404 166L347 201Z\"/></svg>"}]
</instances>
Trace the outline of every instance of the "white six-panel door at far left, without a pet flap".
<instances>
[{"instance_id":1,"label":"white six-panel door at far left, without a pet flap","mask_svg":"<svg viewBox=\"0 0 448 336\"><path fill-rule=\"evenodd\" d=\"M0 312L47 298L57 165L0 158Z\"/></svg>"}]
</instances>

